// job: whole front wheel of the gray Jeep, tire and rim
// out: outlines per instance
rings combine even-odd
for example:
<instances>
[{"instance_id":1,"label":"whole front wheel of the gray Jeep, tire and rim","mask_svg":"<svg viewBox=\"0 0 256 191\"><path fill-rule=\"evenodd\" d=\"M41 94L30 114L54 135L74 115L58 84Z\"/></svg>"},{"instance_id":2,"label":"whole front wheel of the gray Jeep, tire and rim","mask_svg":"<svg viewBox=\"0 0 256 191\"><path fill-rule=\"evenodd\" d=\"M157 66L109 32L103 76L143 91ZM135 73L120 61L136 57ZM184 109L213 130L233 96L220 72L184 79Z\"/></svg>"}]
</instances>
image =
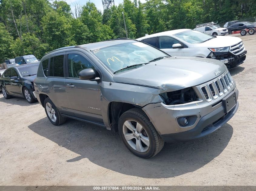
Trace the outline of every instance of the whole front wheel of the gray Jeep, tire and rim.
<instances>
[{"instance_id":1,"label":"whole front wheel of the gray Jeep, tire and rim","mask_svg":"<svg viewBox=\"0 0 256 191\"><path fill-rule=\"evenodd\" d=\"M138 108L130 109L120 116L118 131L125 146L141 158L155 156L164 146L163 139L147 115Z\"/></svg>"}]
</instances>

